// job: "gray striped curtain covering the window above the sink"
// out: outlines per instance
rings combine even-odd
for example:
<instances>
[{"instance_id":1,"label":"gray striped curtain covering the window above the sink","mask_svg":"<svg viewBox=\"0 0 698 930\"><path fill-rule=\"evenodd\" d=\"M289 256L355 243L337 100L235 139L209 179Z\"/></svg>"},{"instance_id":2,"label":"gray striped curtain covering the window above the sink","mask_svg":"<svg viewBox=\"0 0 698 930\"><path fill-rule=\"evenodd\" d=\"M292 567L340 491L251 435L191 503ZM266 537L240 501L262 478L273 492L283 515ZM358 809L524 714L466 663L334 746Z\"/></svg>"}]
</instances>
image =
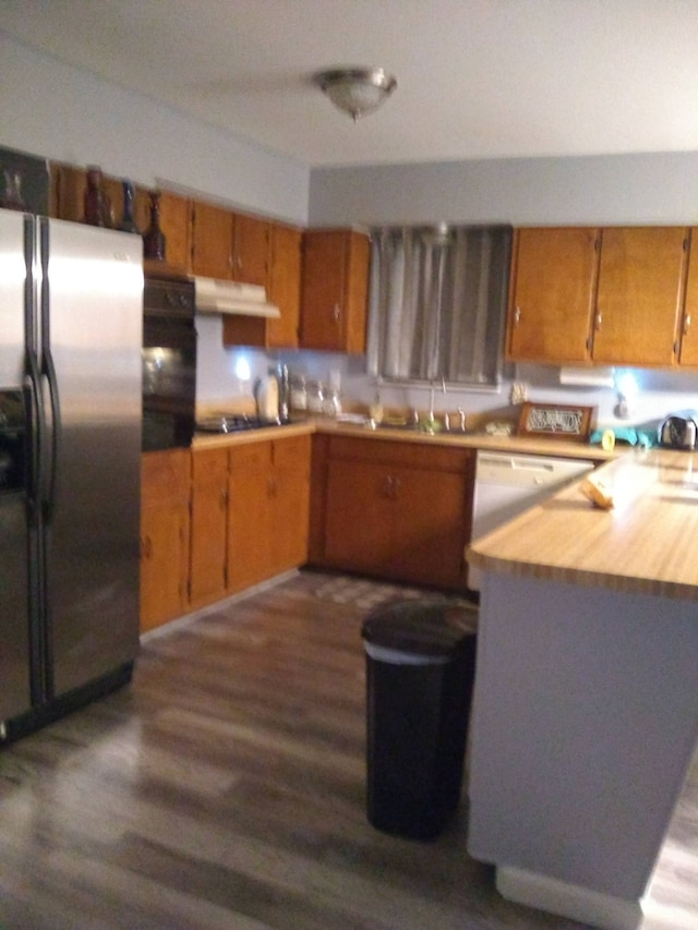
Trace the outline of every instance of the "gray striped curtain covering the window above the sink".
<instances>
[{"instance_id":1,"label":"gray striped curtain covering the window above the sink","mask_svg":"<svg viewBox=\"0 0 698 930\"><path fill-rule=\"evenodd\" d=\"M498 384L510 227L383 227L371 242L369 371Z\"/></svg>"}]
</instances>

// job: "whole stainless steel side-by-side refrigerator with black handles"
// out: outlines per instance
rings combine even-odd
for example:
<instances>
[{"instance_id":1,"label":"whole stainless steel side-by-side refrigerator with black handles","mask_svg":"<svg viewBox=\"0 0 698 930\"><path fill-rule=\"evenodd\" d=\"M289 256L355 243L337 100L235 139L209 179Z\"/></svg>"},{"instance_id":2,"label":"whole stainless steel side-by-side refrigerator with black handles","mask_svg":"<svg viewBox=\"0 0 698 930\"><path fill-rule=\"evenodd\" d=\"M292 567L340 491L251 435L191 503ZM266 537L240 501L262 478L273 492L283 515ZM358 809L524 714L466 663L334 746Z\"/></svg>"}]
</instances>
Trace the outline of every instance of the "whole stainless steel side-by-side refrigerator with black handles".
<instances>
[{"instance_id":1,"label":"whole stainless steel side-by-side refrigerator with black handles","mask_svg":"<svg viewBox=\"0 0 698 930\"><path fill-rule=\"evenodd\" d=\"M131 678L142 255L0 210L0 742Z\"/></svg>"}]
</instances>

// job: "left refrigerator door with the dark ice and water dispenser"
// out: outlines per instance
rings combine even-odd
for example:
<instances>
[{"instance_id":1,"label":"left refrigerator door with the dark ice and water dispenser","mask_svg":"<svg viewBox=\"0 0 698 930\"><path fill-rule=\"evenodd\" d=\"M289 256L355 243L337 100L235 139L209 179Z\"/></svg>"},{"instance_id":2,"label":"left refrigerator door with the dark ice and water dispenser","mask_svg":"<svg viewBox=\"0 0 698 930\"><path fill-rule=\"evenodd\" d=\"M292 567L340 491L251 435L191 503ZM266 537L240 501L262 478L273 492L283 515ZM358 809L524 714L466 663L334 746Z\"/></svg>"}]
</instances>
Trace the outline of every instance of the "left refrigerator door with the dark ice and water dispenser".
<instances>
[{"instance_id":1,"label":"left refrigerator door with the dark ice and water dispenser","mask_svg":"<svg viewBox=\"0 0 698 930\"><path fill-rule=\"evenodd\" d=\"M0 210L0 721L28 710L26 473L14 471L24 361L24 217ZM12 471L11 471L12 470ZM14 471L14 473L12 473Z\"/></svg>"}]
</instances>

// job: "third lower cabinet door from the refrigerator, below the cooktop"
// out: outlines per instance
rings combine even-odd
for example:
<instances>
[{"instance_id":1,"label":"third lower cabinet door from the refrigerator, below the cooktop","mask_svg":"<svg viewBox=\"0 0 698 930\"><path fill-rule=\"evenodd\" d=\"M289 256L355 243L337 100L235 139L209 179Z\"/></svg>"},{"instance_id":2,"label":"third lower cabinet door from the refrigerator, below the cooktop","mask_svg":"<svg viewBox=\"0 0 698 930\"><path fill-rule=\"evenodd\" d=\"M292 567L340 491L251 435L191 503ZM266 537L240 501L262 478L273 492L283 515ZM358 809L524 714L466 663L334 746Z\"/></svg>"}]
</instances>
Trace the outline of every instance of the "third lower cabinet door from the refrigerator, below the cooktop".
<instances>
[{"instance_id":1,"label":"third lower cabinet door from the refrigerator, below the cooktop","mask_svg":"<svg viewBox=\"0 0 698 930\"><path fill-rule=\"evenodd\" d=\"M255 442L229 452L228 590L242 591L272 575L269 540L272 443ZM282 532L278 528L278 532Z\"/></svg>"}]
</instances>

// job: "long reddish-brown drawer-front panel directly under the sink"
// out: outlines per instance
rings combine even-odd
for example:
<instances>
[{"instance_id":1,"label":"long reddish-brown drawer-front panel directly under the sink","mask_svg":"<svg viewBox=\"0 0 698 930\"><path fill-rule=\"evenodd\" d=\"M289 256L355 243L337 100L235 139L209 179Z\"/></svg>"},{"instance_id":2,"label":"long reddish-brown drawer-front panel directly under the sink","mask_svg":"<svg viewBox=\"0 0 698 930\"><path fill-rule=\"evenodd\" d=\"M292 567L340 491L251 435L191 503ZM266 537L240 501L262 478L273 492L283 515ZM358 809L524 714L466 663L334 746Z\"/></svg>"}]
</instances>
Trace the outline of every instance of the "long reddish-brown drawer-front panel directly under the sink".
<instances>
[{"instance_id":1,"label":"long reddish-brown drawer-front panel directly under the sink","mask_svg":"<svg viewBox=\"0 0 698 930\"><path fill-rule=\"evenodd\" d=\"M370 461L374 464L404 466L429 471L466 472L472 461L472 449L430 446L428 443L406 443L392 439L354 439L333 437L330 459Z\"/></svg>"}]
</instances>

